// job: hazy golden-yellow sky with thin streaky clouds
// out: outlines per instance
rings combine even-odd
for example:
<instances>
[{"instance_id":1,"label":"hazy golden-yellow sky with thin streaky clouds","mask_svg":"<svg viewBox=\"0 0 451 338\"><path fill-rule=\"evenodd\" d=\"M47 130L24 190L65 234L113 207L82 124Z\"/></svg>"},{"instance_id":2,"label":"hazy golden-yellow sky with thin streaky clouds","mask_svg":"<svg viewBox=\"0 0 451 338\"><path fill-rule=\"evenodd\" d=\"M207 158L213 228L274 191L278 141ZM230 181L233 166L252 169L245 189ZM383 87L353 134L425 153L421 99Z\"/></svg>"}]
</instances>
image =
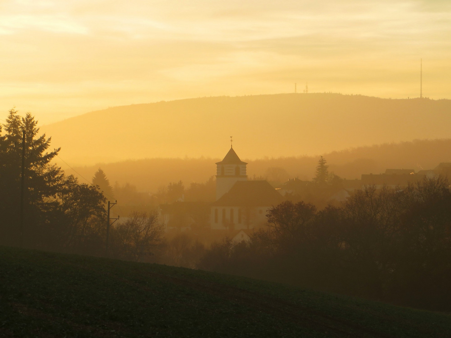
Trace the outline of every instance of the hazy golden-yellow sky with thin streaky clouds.
<instances>
[{"instance_id":1,"label":"hazy golden-yellow sky with thin streaky clouds","mask_svg":"<svg viewBox=\"0 0 451 338\"><path fill-rule=\"evenodd\" d=\"M451 98L449 0L1 0L0 118L199 96Z\"/></svg>"}]
</instances>

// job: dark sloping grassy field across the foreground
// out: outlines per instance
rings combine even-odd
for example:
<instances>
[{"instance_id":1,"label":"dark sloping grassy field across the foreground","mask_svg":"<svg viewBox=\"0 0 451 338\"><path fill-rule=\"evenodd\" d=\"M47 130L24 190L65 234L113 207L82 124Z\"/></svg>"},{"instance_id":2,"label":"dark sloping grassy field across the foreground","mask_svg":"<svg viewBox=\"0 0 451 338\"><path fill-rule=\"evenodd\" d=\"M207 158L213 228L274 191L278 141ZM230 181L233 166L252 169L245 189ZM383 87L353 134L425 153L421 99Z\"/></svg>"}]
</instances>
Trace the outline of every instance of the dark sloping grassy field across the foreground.
<instances>
[{"instance_id":1,"label":"dark sloping grassy field across the foreground","mask_svg":"<svg viewBox=\"0 0 451 338\"><path fill-rule=\"evenodd\" d=\"M0 337L450 337L451 316L163 265L0 247Z\"/></svg>"}]
</instances>

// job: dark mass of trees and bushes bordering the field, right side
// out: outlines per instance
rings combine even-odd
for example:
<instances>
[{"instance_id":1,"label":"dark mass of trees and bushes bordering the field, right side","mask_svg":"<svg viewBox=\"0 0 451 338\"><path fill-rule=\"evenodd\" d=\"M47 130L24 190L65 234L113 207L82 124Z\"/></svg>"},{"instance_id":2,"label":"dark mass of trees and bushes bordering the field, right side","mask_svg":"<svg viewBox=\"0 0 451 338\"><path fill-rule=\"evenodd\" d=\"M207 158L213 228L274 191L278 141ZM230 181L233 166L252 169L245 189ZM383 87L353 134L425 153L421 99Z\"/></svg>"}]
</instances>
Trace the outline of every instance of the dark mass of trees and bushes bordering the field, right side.
<instances>
[{"instance_id":1,"label":"dark mass of trees and bushes bordering the field, right side","mask_svg":"<svg viewBox=\"0 0 451 338\"><path fill-rule=\"evenodd\" d=\"M226 239L199 267L405 306L451 310L451 189L445 178L359 190L318 211L285 201L249 242Z\"/></svg>"}]
</instances>

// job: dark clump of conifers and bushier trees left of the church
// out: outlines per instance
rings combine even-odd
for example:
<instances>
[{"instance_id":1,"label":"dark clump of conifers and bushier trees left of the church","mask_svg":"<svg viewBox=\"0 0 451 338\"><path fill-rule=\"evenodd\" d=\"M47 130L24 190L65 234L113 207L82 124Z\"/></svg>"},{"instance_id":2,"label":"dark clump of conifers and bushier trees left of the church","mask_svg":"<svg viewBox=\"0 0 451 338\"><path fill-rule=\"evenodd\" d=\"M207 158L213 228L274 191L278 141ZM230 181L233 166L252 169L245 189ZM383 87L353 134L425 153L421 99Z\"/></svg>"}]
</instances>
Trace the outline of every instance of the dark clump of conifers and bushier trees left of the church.
<instances>
[{"instance_id":1,"label":"dark clump of conifers and bushier trees left of the church","mask_svg":"<svg viewBox=\"0 0 451 338\"><path fill-rule=\"evenodd\" d=\"M106 252L106 197L99 186L79 183L52 164L60 148L50 150L51 138L39 135L30 113L21 117L9 110L5 122L0 125L0 244L133 260L152 254L162 237L156 213L135 213L112 227Z\"/></svg>"}]
</instances>

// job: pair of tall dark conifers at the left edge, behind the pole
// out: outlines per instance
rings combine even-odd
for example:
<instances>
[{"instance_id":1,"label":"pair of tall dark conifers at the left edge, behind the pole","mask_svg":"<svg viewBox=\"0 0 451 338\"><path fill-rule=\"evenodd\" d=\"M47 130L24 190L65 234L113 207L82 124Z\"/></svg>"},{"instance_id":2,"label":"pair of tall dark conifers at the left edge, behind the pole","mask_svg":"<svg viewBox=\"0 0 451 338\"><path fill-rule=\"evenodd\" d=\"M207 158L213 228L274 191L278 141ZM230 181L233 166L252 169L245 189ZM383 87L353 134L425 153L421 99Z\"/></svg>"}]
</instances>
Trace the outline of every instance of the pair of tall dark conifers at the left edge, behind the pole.
<instances>
[{"instance_id":1,"label":"pair of tall dark conifers at the left edge, behind the pole","mask_svg":"<svg viewBox=\"0 0 451 338\"><path fill-rule=\"evenodd\" d=\"M45 223L45 211L51 207L64 173L56 164L51 164L60 148L49 151L51 138L46 138L45 134L38 136L37 121L30 113L21 117L17 110L9 110L3 127L3 131L0 129L3 132L0 135L0 215L3 221L0 238L16 237L12 240L14 243L19 228L23 150L24 233L30 234L37 224Z\"/></svg>"}]
</instances>

